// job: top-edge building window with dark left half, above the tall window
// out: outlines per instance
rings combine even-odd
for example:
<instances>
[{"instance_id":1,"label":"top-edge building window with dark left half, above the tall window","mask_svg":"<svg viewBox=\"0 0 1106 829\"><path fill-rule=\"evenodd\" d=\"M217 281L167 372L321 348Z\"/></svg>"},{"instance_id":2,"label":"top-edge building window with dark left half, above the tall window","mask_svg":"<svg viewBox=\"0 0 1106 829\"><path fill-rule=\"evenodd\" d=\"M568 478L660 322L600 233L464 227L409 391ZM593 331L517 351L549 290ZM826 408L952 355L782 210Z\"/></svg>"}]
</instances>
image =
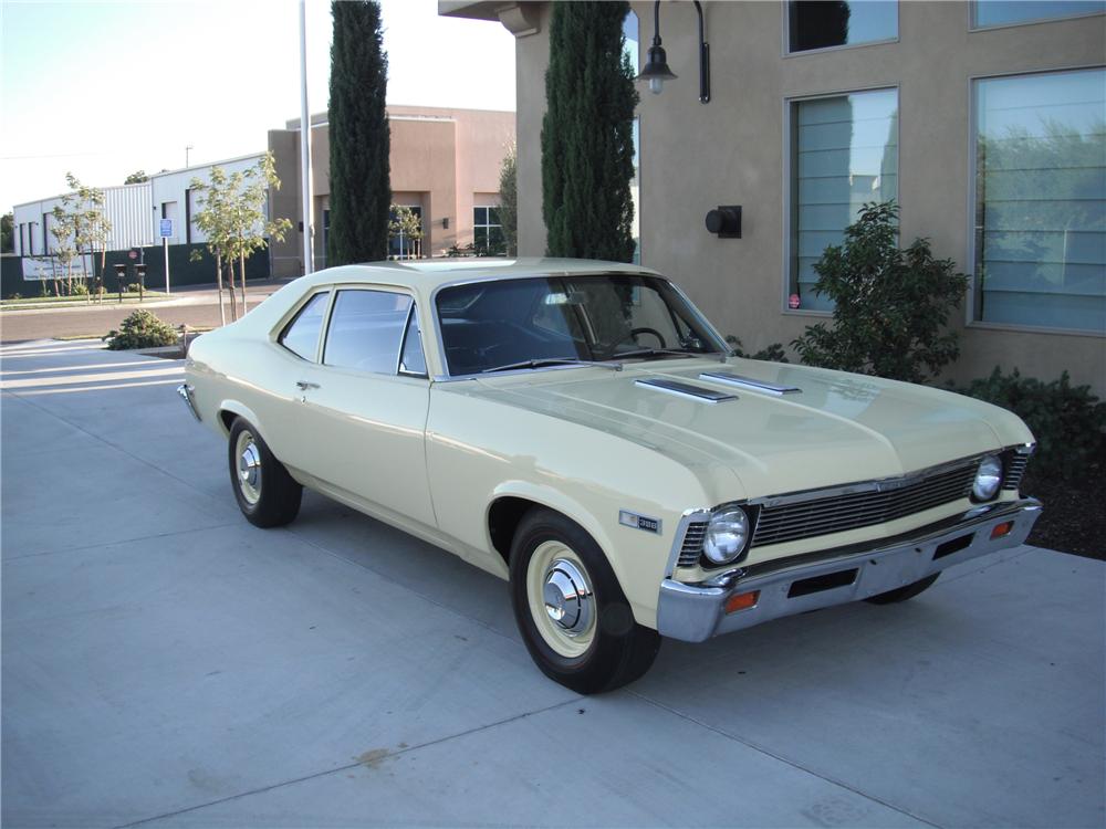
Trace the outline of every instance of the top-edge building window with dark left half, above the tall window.
<instances>
[{"instance_id":1,"label":"top-edge building window with dark left half, above the tall window","mask_svg":"<svg viewBox=\"0 0 1106 829\"><path fill-rule=\"evenodd\" d=\"M897 36L898 3L894 1L791 0L787 3L790 52L855 46Z\"/></svg>"}]
</instances>

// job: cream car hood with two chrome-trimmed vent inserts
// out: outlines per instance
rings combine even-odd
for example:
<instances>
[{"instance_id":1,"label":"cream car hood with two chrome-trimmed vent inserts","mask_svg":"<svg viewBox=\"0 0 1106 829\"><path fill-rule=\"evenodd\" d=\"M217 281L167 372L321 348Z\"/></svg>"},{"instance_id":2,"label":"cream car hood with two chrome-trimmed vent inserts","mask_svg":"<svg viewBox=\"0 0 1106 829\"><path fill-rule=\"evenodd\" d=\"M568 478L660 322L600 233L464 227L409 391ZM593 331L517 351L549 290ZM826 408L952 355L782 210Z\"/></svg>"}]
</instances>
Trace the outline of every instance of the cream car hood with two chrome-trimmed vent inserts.
<instances>
[{"instance_id":1,"label":"cream car hood with two chrome-trimmed vent inserts","mask_svg":"<svg viewBox=\"0 0 1106 829\"><path fill-rule=\"evenodd\" d=\"M796 387L778 395L701 378L728 371ZM660 379L732 395L674 395ZM744 496L893 478L1032 441L1012 413L924 386L841 371L730 358L573 368L477 380L469 393L635 441L689 466L731 469Z\"/></svg>"}]
</instances>

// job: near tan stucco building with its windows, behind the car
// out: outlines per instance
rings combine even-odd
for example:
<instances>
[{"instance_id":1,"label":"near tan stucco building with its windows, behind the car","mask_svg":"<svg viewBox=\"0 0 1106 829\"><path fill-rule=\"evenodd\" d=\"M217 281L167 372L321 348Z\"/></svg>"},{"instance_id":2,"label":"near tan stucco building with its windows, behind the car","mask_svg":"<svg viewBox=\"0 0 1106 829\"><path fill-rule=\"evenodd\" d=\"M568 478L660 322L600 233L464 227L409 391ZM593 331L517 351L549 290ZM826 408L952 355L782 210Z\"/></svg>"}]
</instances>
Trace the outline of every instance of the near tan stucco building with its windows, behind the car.
<instances>
[{"instance_id":1,"label":"near tan stucco building with its windows, behind the car","mask_svg":"<svg viewBox=\"0 0 1106 829\"><path fill-rule=\"evenodd\" d=\"M633 2L640 57L654 3ZM828 308L811 265L866 201L971 277L949 376L1000 365L1106 395L1106 3L660 3L679 76L641 88L640 256L750 350ZM519 246L541 254L546 2L439 0L517 36ZM640 64L639 64L640 65ZM742 207L740 238L705 227ZM797 307L792 307L797 305Z\"/></svg>"}]
</instances>

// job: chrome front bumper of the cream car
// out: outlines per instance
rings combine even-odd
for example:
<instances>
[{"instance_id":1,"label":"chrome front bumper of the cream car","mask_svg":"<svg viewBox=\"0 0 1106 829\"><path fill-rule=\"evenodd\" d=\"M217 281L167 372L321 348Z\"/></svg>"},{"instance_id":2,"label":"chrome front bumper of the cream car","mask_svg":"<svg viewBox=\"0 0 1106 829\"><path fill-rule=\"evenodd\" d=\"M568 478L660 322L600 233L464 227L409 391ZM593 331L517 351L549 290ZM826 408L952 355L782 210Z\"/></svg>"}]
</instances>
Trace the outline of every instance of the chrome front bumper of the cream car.
<instances>
[{"instance_id":1,"label":"chrome front bumper of the cream car","mask_svg":"<svg viewBox=\"0 0 1106 829\"><path fill-rule=\"evenodd\" d=\"M1034 499L971 510L951 522L863 547L734 568L708 581L660 585L657 630L661 636L701 642L719 633L751 628L769 619L866 599L912 584L971 558L1024 543L1041 515ZM1006 534L995 527L1012 522ZM759 591L745 609L727 612L731 597Z\"/></svg>"}]
</instances>

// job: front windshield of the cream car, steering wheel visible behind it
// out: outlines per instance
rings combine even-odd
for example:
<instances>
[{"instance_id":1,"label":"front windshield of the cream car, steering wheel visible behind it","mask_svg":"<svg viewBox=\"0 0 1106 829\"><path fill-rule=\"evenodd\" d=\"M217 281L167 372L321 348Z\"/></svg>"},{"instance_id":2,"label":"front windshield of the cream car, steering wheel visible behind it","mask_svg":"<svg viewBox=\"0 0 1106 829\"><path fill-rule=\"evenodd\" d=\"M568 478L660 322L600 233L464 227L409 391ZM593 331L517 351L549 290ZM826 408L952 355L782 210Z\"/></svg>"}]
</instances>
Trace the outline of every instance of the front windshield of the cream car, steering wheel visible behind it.
<instances>
[{"instance_id":1,"label":"front windshield of the cream car, steering wheel visible behind it","mask_svg":"<svg viewBox=\"0 0 1106 829\"><path fill-rule=\"evenodd\" d=\"M437 297L452 376L572 360L718 354L688 303L655 276L603 274L478 282ZM515 366L515 364L528 364Z\"/></svg>"}]
</instances>

